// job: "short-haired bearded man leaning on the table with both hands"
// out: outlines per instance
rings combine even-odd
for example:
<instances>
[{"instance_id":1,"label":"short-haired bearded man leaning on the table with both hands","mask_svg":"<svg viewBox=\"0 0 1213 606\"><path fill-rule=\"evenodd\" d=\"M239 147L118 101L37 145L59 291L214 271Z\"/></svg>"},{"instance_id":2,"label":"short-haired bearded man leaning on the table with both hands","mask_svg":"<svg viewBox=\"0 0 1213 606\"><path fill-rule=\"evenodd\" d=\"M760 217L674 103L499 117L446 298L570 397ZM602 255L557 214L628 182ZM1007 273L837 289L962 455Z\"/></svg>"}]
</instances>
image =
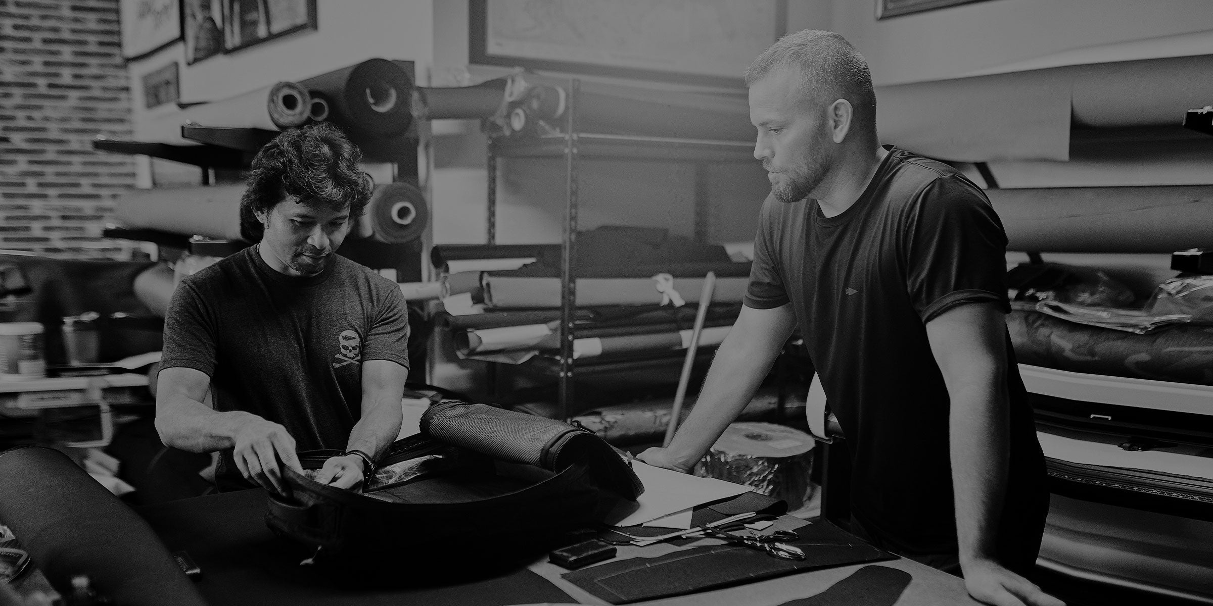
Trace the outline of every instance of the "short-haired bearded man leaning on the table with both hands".
<instances>
[{"instance_id":1,"label":"short-haired bearded man leaning on the table with both hands","mask_svg":"<svg viewBox=\"0 0 1213 606\"><path fill-rule=\"evenodd\" d=\"M867 63L838 34L785 36L746 84L771 193L745 307L685 424L640 458L689 470L799 324L847 436L855 532L962 572L989 604L1060 604L1020 576L1048 492L989 200L950 166L879 144Z\"/></svg>"}]
</instances>

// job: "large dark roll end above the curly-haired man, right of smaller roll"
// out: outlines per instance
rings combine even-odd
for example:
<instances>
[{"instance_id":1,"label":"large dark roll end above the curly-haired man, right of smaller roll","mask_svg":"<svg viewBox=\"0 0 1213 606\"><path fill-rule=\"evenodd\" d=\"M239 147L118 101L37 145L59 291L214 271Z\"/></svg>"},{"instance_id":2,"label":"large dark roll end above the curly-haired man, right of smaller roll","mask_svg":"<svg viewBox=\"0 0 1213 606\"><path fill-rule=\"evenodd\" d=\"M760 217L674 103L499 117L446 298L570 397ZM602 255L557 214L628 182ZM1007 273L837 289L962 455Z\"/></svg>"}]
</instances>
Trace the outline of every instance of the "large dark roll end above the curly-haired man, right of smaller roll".
<instances>
[{"instance_id":1,"label":"large dark roll end above the curly-haired man, right of smaller roll","mask_svg":"<svg viewBox=\"0 0 1213 606\"><path fill-rule=\"evenodd\" d=\"M366 59L298 84L328 102L329 121L361 138L395 138L412 125L412 78L391 61Z\"/></svg>"}]
</instances>

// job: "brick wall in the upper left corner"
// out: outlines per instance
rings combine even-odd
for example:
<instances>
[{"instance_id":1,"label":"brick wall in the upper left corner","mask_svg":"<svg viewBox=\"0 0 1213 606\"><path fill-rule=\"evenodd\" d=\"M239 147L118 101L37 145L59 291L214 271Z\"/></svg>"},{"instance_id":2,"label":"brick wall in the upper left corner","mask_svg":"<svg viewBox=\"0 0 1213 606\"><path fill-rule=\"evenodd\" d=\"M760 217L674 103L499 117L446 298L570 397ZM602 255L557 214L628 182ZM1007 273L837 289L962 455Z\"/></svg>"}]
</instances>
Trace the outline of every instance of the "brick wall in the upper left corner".
<instances>
[{"instance_id":1,"label":"brick wall in the upper left corner","mask_svg":"<svg viewBox=\"0 0 1213 606\"><path fill-rule=\"evenodd\" d=\"M91 145L130 114L118 0L0 0L0 248L130 257L101 229L135 165Z\"/></svg>"}]
</instances>

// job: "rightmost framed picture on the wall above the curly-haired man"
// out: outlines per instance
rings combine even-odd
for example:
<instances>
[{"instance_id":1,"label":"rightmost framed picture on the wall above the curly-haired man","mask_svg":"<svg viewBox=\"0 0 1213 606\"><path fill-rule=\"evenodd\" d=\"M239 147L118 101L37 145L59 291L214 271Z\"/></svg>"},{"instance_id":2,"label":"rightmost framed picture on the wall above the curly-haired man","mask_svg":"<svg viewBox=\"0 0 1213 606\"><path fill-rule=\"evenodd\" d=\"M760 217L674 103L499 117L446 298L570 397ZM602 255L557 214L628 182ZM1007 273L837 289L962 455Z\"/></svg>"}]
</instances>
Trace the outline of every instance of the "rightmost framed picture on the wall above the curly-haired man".
<instances>
[{"instance_id":1,"label":"rightmost framed picture on the wall above the curly-haired man","mask_svg":"<svg viewBox=\"0 0 1213 606\"><path fill-rule=\"evenodd\" d=\"M279 36L315 29L315 0L220 0L223 46L234 51Z\"/></svg>"}]
</instances>

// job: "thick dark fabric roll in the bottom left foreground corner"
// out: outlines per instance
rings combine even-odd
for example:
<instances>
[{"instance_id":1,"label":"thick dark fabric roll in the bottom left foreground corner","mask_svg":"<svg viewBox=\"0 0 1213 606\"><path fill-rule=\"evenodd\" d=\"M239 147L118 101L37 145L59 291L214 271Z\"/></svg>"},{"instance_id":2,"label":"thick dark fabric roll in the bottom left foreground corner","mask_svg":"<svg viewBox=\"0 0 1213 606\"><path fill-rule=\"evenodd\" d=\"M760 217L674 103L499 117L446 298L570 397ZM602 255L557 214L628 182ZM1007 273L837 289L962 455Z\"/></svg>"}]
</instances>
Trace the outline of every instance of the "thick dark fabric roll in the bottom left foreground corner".
<instances>
[{"instance_id":1,"label":"thick dark fabric roll in the bottom left foreground corner","mask_svg":"<svg viewBox=\"0 0 1213 606\"><path fill-rule=\"evenodd\" d=\"M87 574L123 606L205 606L147 522L63 453L0 453L0 520L59 593Z\"/></svg>"}]
</instances>

